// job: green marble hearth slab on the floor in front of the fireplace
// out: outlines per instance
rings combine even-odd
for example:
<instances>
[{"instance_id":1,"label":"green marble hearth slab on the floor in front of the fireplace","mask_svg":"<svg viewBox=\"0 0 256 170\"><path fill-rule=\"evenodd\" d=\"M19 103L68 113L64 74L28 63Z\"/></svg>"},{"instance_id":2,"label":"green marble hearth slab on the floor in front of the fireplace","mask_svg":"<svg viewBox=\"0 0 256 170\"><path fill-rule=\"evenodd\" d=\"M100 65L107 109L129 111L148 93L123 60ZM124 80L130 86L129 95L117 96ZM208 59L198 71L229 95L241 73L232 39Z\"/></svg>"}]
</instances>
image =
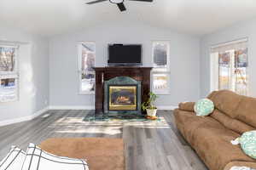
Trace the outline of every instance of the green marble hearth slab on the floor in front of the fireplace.
<instances>
[{"instance_id":1,"label":"green marble hearth slab on the floor in front of the fireplace","mask_svg":"<svg viewBox=\"0 0 256 170\"><path fill-rule=\"evenodd\" d=\"M118 115L106 115L95 114L95 111L90 111L85 117L84 122L152 122L143 115L137 114L118 114ZM160 118L154 120L154 122L160 122Z\"/></svg>"}]
</instances>

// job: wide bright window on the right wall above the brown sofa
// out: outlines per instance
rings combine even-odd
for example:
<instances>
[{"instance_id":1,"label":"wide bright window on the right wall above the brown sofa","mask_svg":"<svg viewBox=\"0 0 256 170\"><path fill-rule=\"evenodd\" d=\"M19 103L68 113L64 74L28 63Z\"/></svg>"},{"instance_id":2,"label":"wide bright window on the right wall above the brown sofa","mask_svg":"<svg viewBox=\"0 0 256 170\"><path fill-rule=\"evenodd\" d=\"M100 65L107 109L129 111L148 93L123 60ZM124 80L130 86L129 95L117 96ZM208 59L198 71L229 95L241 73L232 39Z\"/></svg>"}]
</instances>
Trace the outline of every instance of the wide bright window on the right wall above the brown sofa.
<instances>
[{"instance_id":1,"label":"wide bright window on the right wall above the brown sofa","mask_svg":"<svg viewBox=\"0 0 256 170\"><path fill-rule=\"evenodd\" d=\"M229 89L248 93L247 39L211 48L212 90Z\"/></svg>"}]
</instances>

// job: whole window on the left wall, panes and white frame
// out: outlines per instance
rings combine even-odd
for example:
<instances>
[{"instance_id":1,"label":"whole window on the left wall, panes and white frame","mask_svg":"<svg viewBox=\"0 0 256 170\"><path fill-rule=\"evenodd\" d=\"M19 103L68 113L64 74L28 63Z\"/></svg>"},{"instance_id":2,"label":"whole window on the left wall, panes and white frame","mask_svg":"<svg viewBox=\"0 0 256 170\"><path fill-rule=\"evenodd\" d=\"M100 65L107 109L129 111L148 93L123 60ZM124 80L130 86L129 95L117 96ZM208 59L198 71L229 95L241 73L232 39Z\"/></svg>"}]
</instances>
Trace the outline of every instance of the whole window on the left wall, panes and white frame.
<instances>
[{"instance_id":1,"label":"whole window on the left wall, panes and white frame","mask_svg":"<svg viewBox=\"0 0 256 170\"><path fill-rule=\"evenodd\" d=\"M0 102L18 99L17 47L0 46Z\"/></svg>"}]
</instances>

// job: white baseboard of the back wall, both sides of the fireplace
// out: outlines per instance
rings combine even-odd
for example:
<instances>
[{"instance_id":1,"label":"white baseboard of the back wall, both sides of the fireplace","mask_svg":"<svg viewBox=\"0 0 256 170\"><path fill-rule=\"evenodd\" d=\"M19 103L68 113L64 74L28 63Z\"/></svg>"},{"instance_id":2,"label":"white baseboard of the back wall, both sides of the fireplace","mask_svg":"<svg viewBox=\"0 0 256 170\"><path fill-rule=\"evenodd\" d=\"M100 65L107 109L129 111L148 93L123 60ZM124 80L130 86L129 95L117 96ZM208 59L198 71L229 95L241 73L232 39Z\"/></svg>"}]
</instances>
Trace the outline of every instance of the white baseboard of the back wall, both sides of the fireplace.
<instances>
[{"instance_id":1,"label":"white baseboard of the back wall, both sides of the fireplace","mask_svg":"<svg viewBox=\"0 0 256 170\"><path fill-rule=\"evenodd\" d=\"M166 106L160 105L157 106L159 110L175 110L177 106ZM94 105L50 105L49 110L94 110Z\"/></svg>"}]
</instances>

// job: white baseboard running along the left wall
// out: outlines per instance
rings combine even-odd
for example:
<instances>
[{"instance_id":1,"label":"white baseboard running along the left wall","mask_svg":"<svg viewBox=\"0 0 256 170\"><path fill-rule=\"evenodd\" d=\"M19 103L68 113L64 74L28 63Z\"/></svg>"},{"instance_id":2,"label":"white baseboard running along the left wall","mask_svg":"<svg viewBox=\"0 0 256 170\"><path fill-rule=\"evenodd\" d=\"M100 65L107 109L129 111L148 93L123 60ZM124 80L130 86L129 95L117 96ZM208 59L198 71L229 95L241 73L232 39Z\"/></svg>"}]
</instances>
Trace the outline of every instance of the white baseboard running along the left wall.
<instances>
[{"instance_id":1,"label":"white baseboard running along the left wall","mask_svg":"<svg viewBox=\"0 0 256 170\"><path fill-rule=\"evenodd\" d=\"M14 123L17 123L17 122L30 121L30 120L36 118L37 116L40 116L41 114L43 114L45 111L48 111L48 110L49 110L49 108L45 107L44 109L35 112L31 116L23 116L23 117L19 117L19 118L15 118L15 119L9 119L9 120L6 120L6 121L1 121L0 122L0 127L6 126L6 125L9 125L9 124L14 124Z\"/></svg>"}]
</instances>

